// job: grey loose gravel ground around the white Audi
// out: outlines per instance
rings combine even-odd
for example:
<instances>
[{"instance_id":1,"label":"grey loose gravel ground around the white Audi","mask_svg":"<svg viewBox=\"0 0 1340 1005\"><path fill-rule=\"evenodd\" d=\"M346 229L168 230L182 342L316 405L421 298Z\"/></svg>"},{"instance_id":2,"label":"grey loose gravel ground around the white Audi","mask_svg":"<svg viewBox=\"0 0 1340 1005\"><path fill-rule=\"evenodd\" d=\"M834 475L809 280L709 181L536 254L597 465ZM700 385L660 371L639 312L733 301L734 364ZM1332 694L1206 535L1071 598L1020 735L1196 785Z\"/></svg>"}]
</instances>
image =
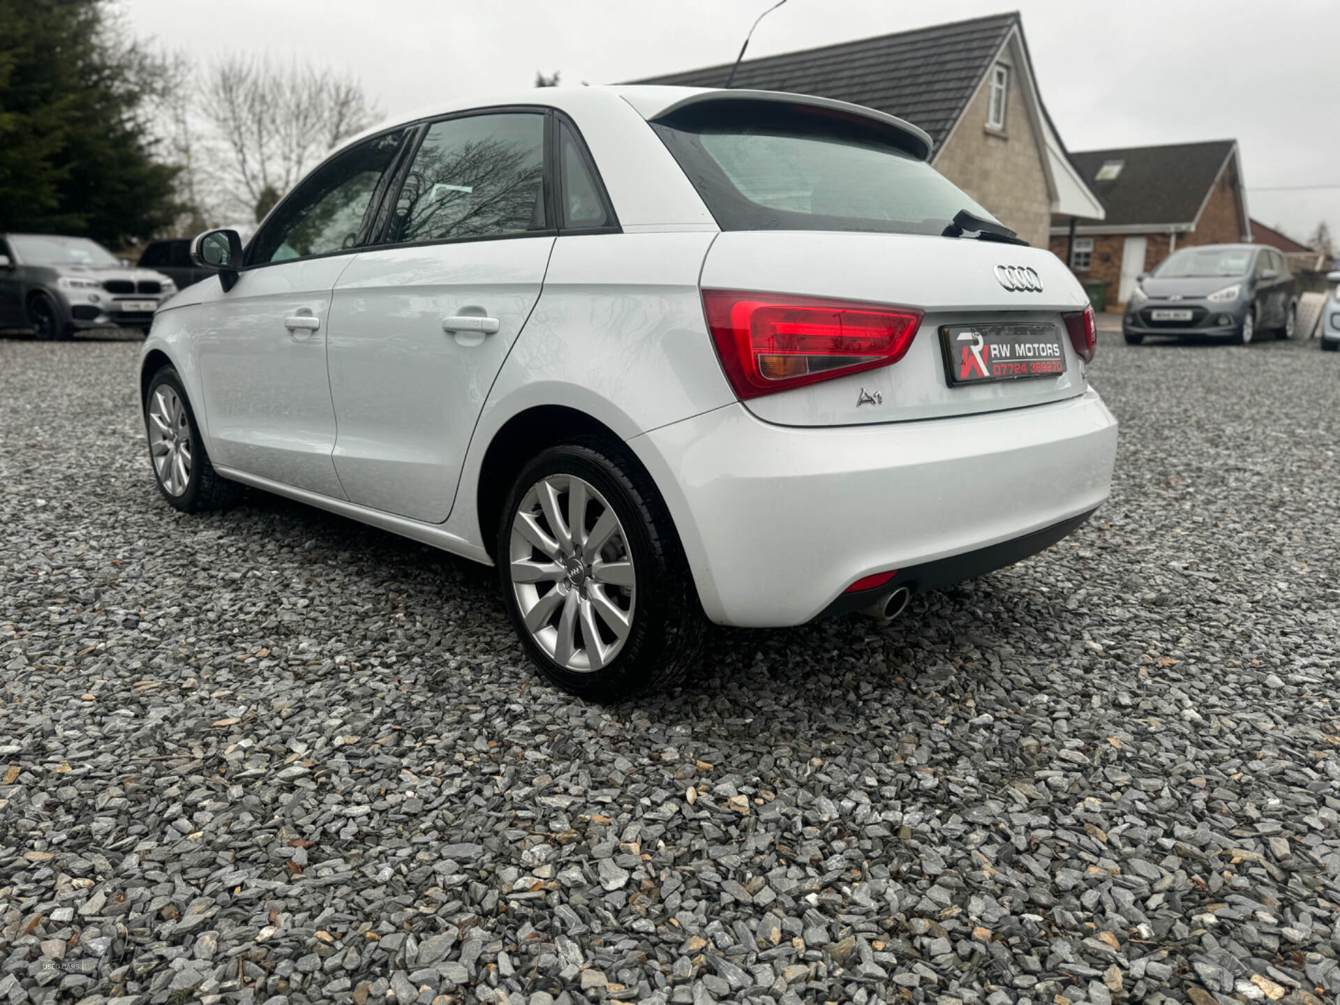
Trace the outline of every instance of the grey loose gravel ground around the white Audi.
<instances>
[{"instance_id":1,"label":"grey loose gravel ground around the white Audi","mask_svg":"<svg viewBox=\"0 0 1340 1005\"><path fill-rule=\"evenodd\" d=\"M1340 358L1095 367L1112 501L888 624L540 686L492 574L155 496L0 340L0 1005L1335 1001Z\"/></svg>"}]
</instances>

